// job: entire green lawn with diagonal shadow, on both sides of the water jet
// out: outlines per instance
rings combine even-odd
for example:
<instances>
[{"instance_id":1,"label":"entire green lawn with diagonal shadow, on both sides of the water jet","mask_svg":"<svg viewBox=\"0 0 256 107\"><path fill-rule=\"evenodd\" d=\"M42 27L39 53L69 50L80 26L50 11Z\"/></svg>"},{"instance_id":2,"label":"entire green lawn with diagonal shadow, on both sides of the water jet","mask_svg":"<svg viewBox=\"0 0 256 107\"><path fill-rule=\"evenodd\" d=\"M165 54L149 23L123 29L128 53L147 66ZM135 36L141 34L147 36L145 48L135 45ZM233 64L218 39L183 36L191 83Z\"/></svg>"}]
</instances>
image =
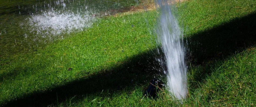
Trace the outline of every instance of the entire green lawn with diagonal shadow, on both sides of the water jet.
<instances>
[{"instance_id":1,"label":"entire green lawn with diagonal shadow, on both sides of the water jet","mask_svg":"<svg viewBox=\"0 0 256 107\"><path fill-rule=\"evenodd\" d=\"M256 106L256 1L177 5L188 41L188 97L142 94L154 77L158 13L99 18L83 32L0 59L1 106ZM146 20L145 20L146 19Z\"/></svg>"}]
</instances>

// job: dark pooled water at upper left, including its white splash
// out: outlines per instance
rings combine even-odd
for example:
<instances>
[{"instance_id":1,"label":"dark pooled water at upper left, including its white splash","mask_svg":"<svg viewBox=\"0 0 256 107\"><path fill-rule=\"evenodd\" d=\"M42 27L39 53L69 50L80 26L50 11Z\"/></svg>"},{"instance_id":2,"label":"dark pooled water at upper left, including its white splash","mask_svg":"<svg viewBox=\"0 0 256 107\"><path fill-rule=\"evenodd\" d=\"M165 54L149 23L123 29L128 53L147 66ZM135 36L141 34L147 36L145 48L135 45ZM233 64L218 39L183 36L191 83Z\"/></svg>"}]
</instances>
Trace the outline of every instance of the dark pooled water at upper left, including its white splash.
<instances>
[{"instance_id":1,"label":"dark pooled water at upper left, including its white splash","mask_svg":"<svg viewBox=\"0 0 256 107\"><path fill-rule=\"evenodd\" d=\"M12 0L0 6L0 57L29 52L127 9L133 0ZM2 8L3 7L3 8Z\"/></svg>"}]
</instances>

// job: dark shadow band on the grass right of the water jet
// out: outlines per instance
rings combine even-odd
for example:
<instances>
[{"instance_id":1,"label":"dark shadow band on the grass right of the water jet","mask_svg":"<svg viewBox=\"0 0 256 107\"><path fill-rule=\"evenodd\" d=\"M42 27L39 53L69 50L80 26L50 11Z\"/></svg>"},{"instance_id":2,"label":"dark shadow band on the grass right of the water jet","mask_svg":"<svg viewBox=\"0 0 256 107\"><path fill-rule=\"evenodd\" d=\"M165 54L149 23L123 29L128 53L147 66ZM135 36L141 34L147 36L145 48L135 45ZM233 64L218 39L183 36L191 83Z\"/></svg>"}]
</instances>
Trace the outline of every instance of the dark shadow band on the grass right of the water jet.
<instances>
[{"instance_id":1,"label":"dark shadow band on the grass right of the water jet","mask_svg":"<svg viewBox=\"0 0 256 107\"><path fill-rule=\"evenodd\" d=\"M215 28L198 32L188 38L191 55L188 56L193 66L202 66L201 72L194 75L201 82L211 74L211 68L218 63L239 53L256 43L256 12L242 18L230 20Z\"/></svg>"}]
</instances>

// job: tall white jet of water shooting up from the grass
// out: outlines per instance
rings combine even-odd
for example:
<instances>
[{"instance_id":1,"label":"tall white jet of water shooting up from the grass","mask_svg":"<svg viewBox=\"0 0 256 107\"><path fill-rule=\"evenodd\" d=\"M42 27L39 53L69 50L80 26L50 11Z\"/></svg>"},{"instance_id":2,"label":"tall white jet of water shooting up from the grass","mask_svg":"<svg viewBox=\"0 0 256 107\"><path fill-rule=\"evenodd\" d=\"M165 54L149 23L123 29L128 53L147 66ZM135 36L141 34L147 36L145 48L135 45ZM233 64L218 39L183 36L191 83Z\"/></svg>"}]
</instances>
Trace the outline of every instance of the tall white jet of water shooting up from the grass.
<instances>
[{"instance_id":1,"label":"tall white jet of water shooting up from the grass","mask_svg":"<svg viewBox=\"0 0 256 107\"><path fill-rule=\"evenodd\" d=\"M161 45L161 49L158 49L158 54L160 54L160 50L164 53L164 58L158 59L158 61L167 76L167 85L173 99L182 100L186 98L188 92L183 34L168 2L166 0L156 0L155 2L156 6L160 8L157 43Z\"/></svg>"}]
</instances>

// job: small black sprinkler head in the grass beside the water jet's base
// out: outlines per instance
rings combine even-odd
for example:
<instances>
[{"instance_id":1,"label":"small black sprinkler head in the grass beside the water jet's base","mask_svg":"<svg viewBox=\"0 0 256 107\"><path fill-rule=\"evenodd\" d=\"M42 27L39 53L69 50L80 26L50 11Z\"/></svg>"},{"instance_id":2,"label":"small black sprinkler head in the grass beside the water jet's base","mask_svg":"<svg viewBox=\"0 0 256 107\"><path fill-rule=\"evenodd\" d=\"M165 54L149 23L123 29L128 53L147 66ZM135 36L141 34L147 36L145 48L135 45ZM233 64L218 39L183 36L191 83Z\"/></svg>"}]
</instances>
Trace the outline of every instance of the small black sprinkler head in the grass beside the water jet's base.
<instances>
[{"instance_id":1,"label":"small black sprinkler head in the grass beside the water jet's base","mask_svg":"<svg viewBox=\"0 0 256 107\"><path fill-rule=\"evenodd\" d=\"M163 87L162 82L158 79L152 79L148 85L147 90L144 92L143 96L149 98L155 98L157 96L157 92Z\"/></svg>"}]
</instances>

